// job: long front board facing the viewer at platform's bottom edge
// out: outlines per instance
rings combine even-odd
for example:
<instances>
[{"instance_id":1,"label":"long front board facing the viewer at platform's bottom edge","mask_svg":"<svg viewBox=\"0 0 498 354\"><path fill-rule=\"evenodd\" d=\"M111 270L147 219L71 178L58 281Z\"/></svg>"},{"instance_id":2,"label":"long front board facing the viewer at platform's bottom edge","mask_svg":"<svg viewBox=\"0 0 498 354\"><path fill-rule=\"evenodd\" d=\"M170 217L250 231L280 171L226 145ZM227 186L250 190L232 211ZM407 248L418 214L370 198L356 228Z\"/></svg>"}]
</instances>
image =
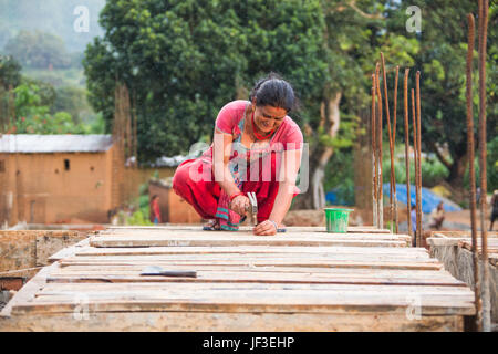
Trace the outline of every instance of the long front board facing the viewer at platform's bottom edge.
<instances>
[{"instance_id":1,"label":"long front board facing the viewer at platform's bottom edge","mask_svg":"<svg viewBox=\"0 0 498 354\"><path fill-rule=\"evenodd\" d=\"M2 332L416 332L463 331L460 315L408 317L398 312L362 313L216 313L89 312L42 313L0 322Z\"/></svg>"}]
</instances>

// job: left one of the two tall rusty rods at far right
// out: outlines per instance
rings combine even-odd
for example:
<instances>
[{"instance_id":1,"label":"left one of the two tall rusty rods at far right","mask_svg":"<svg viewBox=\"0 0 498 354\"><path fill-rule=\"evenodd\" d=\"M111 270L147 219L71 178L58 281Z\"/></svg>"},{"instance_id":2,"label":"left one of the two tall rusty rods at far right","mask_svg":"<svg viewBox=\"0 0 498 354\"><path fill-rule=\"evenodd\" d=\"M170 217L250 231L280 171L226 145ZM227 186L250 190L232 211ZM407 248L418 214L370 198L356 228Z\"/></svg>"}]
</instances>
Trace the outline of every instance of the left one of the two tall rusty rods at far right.
<instances>
[{"instance_id":1,"label":"left one of the two tall rusty rods at far right","mask_svg":"<svg viewBox=\"0 0 498 354\"><path fill-rule=\"evenodd\" d=\"M474 113L473 113L473 55L474 55L474 33L475 21L474 15L469 13L468 19L468 46L467 46L467 155L469 168L470 184L470 229L473 240L473 263L474 263L474 299L476 303L476 326L481 331L483 322L483 303L480 299L480 280L479 280L479 250L477 244L477 219L476 219L476 171L474 168L475 150L474 150Z\"/></svg>"}]
</instances>

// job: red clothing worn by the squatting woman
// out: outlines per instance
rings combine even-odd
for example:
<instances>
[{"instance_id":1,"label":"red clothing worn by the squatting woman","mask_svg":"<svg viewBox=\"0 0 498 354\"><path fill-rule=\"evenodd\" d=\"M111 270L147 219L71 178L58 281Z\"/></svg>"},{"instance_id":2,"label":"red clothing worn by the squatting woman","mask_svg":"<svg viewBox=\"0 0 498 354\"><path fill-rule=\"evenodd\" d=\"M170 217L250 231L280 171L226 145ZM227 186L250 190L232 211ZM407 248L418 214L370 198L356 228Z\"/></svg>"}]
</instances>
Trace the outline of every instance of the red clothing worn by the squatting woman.
<instances>
[{"instance_id":1,"label":"red clothing worn by the squatting woman","mask_svg":"<svg viewBox=\"0 0 498 354\"><path fill-rule=\"evenodd\" d=\"M216 126L221 132L234 135L229 169L242 192L256 194L258 222L262 222L270 217L279 191L278 176L282 153L286 149L301 148L302 133L299 126L286 116L273 133L268 147L258 150L246 149L240 139L247 104L249 104L247 101L227 104L218 114ZM212 148L211 145L201 157L186 160L178 166L173 178L173 189L204 219L218 219L221 229L237 230L240 216L229 209L229 196L215 181ZM294 197L297 192L298 188Z\"/></svg>"}]
</instances>

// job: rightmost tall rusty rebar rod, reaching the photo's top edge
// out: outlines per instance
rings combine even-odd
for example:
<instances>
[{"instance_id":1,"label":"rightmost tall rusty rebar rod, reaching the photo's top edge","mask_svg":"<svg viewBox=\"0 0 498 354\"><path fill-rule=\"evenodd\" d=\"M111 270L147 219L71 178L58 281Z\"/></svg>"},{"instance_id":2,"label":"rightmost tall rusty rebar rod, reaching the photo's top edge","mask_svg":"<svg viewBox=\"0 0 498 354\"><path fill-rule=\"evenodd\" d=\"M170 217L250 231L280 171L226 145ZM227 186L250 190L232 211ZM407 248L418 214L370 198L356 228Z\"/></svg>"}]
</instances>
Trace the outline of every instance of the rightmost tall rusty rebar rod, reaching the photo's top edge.
<instances>
[{"instance_id":1,"label":"rightmost tall rusty rebar rod, reaching the photo's top edge","mask_svg":"<svg viewBox=\"0 0 498 354\"><path fill-rule=\"evenodd\" d=\"M488 32L488 0L479 0L479 160L480 160L480 238L483 252L483 331L491 331L491 306L489 292L489 259L487 216L487 171L486 171L486 48Z\"/></svg>"}]
</instances>

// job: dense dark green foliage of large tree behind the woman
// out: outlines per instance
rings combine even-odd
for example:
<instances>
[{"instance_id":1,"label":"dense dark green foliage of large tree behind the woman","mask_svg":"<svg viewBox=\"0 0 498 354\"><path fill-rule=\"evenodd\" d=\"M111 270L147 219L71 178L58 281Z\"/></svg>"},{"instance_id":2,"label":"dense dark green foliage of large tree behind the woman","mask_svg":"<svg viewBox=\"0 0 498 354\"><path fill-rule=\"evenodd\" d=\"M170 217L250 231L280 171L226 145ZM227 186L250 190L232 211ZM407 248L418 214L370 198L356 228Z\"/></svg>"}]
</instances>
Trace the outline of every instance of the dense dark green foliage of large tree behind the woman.
<instances>
[{"instance_id":1,"label":"dense dark green foliage of large tree behind the woman","mask_svg":"<svg viewBox=\"0 0 498 354\"><path fill-rule=\"evenodd\" d=\"M210 136L219 110L259 75L280 72L305 103L326 75L315 0L110 1L101 24L84 59L90 101L110 129L115 80L127 84L142 163Z\"/></svg>"}]
</instances>

